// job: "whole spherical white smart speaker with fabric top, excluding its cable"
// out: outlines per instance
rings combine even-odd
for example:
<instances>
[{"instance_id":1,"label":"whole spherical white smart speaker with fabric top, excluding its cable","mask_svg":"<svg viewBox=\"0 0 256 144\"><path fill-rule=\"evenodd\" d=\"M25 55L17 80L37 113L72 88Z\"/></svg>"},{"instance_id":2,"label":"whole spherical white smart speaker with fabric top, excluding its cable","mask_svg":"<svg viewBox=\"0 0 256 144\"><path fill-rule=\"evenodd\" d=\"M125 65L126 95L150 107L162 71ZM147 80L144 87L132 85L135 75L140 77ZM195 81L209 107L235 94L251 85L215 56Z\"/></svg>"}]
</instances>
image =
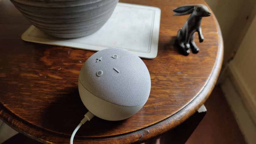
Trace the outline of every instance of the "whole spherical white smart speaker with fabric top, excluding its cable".
<instances>
[{"instance_id":1,"label":"whole spherical white smart speaker with fabric top, excluding its cable","mask_svg":"<svg viewBox=\"0 0 256 144\"><path fill-rule=\"evenodd\" d=\"M148 100L148 68L136 55L119 48L96 52L79 73L78 89L85 107L95 116L118 121L137 113Z\"/></svg>"}]
</instances>

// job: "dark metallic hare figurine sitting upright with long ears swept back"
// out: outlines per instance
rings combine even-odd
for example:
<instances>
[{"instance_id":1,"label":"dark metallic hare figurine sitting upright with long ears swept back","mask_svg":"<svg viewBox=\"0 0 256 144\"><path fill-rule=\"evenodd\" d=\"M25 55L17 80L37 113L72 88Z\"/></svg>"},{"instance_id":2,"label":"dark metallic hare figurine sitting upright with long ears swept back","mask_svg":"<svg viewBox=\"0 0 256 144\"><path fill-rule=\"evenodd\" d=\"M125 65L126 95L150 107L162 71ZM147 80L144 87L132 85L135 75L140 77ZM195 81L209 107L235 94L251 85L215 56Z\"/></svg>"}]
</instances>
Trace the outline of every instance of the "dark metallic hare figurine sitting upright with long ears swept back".
<instances>
[{"instance_id":1,"label":"dark metallic hare figurine sitting upright with long ears swept back","mask_svg":"<svg viewBox=\"0 0 256 144\"><path fill-rule=\"evenodd\" d=\"M190 48L193 53L198 53L199 48L194 42L194 33L198 33L200 43L204 41L200 26L201 20L202 17L210 16L211 12L203 4L179 6L174 9L173 12L176 12L174 16L182 16L191 13L184 26L178 31L176 40L184 55L190 53Z\"/></svg>"}]
</instances>

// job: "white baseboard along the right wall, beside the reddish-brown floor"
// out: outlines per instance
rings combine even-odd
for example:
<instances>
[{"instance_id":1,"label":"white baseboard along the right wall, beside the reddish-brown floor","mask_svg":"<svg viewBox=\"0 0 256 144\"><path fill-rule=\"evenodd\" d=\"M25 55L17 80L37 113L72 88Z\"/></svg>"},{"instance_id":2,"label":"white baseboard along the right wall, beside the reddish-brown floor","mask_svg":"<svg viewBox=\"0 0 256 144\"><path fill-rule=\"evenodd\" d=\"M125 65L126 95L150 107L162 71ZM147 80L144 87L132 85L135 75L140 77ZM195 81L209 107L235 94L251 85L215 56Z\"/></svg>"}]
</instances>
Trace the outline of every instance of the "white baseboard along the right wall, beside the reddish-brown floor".
<instances>
[{"instance_id":1,"label":"white baseboard along the right wall, beside the reddish-brown floor","mask_svg":"<svg viewBox=\"0 0 256 144\"><path fill-rule=\"evenodd\" d=\"M226 97L226 100L236 118L236 121L240 127L241 132L248 144L255 144L256 142L256 125L254 112L251 106L248 106L247 98L244 98L239 84L237 84L237 78L234 78L233 74L230 74L230 67L228 68L228 77L221 83L222 91ZM232 72L231 72L232 73Z\"/></svg>"}]
</instances>

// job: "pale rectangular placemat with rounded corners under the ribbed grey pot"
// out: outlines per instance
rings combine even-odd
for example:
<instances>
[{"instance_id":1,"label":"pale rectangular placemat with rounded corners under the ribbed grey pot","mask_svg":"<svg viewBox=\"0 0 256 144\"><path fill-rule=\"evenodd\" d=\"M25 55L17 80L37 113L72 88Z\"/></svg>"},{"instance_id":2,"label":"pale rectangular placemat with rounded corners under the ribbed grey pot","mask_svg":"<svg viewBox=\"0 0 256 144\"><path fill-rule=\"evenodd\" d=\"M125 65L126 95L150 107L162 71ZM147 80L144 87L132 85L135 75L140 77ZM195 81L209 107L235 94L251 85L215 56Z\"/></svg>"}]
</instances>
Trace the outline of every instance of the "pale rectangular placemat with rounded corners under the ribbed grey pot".
<instances>
[{"instance_id":1,"label":"pale rectangular placemat with rounded corners under the ribbed grey pot","mask_svg":"<svg viewBox=\"0 0 256 144\"><path fill-rule=\"evenodd\" d=\"M124 48L140 58L155 58L161 10L157 7L119 2L107 23L97 32L76 39L49 36L33 25L21 38L25 41L100 51L109 47Z\"/></svg>"}]
</instances>

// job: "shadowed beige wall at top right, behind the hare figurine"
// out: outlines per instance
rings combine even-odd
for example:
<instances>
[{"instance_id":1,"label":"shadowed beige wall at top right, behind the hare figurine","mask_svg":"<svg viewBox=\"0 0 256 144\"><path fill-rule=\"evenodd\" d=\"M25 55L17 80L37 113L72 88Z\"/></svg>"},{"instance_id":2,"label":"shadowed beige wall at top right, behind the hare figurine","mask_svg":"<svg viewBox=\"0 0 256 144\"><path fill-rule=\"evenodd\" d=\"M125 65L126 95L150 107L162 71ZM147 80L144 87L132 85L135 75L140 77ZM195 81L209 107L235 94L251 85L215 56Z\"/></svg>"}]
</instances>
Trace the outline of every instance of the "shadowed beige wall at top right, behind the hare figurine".
<instances>
[{"instance_id":1,"label":"shadowed beige wall at top right, behind the hare figurine","mask_svg":"<svg viewBox=\"0 0 256 144\"><path fill-rule=\"evenodd\" d=\"M256 14L255 0L205 0L218 19L223 41L223 65L233 58Z\"/></svg>"}]
</instances>

